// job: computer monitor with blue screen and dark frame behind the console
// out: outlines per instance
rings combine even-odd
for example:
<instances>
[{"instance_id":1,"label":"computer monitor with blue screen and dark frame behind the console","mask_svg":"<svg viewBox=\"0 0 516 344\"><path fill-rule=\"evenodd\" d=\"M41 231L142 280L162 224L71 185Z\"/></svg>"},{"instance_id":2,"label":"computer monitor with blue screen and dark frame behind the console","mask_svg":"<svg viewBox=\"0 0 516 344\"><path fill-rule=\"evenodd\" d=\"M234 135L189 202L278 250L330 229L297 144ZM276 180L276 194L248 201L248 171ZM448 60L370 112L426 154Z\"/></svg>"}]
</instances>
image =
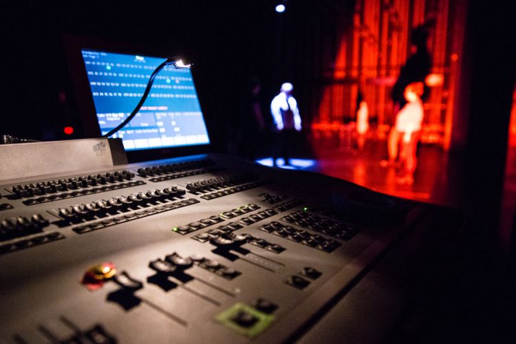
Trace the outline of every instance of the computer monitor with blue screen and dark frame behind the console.
<instances>
[{"instance_id":1,"label":"computer monitor with blue screen and dark frame behind the console","mask_svg":"<svg viewBox=\"0 0 516 344\"><path fill-rule=\"evenodd\" d=\"M99 42L65 39L86 137L105 135L125 120L142 98L154 69L165 61L159 55L136 54L121 45ZM112 137L122 138L129 155L208 147L210 136L191 69L164 67L138 114Z\"/></svg>"}]
</instances>

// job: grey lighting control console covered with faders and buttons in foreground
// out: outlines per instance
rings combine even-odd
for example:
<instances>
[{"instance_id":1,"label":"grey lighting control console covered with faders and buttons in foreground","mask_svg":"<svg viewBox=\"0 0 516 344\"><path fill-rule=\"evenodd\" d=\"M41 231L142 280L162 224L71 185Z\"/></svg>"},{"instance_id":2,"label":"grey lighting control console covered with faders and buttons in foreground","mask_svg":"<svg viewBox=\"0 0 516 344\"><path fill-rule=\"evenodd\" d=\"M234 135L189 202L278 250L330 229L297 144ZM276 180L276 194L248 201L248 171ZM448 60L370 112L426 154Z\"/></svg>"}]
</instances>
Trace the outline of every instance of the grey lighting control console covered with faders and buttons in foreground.
<instances>
[{"instance_id":1,"label":"grey lighting control console covered with faders and buttons in foreground","mask_svg":"<svg viewBox=\"0 0 516 344\"><path fill-rule=\"evenodd\" d=\"M327 316L343 341L380 333L385 295L358 286L442 216L224 155L0 184L2 343L314 341Z\"/></svg>"}]
</instances>

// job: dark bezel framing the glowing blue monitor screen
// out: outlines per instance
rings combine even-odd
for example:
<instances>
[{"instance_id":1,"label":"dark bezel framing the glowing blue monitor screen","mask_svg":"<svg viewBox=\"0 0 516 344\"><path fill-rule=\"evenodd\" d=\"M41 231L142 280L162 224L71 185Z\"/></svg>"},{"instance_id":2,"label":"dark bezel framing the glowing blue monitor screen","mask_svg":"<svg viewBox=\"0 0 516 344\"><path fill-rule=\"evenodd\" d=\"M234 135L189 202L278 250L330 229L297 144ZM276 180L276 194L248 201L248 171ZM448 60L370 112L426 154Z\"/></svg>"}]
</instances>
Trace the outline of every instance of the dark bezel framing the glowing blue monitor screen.
<instances>
[{"instance_id":1,"label":"dark bezel framing the glowing blue monitor screen","mask_svg":"<svg viewBox=\"0 0 516 344\"><path fill-rule=\"evenodd\" d=\"M84 138L99 138L101 136L100 126L89 80L87 78L86 67L83 60L82 50L100 50L105 52L113 52L117 54L134 54L142 56L155 56L164 58L166 56L175 56L169 50L155 45L146 45L138 43L127 43L121 41L111 41L107 39L98 39L85 36L63 36L63 47L67 59L69 75L72 82L72 88L78 107L78 116L80 125L83 129ZM200 94L198 83L195 77L195 67L191 69L193 74L197 95ZM126 151L129 162L140 162L145 160L155 160L163 158L173 158L182 155L193 155L200 153L213 153L213 134L210 130L211 125L204 111L202 96L198 98L201 111L204 118L204 124L208 131L208 144L195 144L190 146L179 147L158 147L152 149L139 149Z\"/></svg>"}]
</instances>

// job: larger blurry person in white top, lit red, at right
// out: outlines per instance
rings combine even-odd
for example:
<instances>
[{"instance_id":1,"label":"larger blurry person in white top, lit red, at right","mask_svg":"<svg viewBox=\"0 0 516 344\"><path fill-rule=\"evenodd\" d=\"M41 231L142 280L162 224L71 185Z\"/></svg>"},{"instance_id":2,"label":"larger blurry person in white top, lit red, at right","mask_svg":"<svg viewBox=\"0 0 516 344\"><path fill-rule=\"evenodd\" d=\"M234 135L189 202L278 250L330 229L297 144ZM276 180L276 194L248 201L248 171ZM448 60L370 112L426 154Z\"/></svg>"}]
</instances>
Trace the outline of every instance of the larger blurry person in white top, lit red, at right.
<instances>
[{"instance_id":1,"label":"larger blurry person in white top, lit red, at right","mask_svg":"<svg viewBox=\"0 0 516 344\"><path fill-rule=\"evenodd\" d=\"M398 178L400 184L413 184L413 173L418 163L416 149L423 121L423 103L420 98L423 87L423 83L420 82L411 83L405 87L403 95L407 104L396 115L395 127L398 141L400 137L402 139L400 152L402 175Z\"/></svg>"}]
</instances>

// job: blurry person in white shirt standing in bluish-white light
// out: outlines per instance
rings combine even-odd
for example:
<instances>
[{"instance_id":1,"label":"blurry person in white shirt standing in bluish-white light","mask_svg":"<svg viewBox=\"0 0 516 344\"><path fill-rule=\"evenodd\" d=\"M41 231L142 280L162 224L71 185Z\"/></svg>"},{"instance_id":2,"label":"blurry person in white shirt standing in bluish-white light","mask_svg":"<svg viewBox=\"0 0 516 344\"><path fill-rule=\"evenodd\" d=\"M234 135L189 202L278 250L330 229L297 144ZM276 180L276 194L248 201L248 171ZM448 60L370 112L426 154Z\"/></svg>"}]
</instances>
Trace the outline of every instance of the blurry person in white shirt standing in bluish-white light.
<instances>
[{"instance_id":1,"label":"blurry person in white shirt standing in bluish-white light","mask_svg":"<svg viewBox=\"0 0 516 344\"><path fill-rule=\"evenodd\" d=\"M274 164L280 155L283 155L286 164L289 164L296 131L301 131L301 116L299 116L297 101L292 96L292 89L294 87L291 83L283 83L281 92L270 103L270 113L278 133L273 152Z\"/></svg>"}]
</instances>

